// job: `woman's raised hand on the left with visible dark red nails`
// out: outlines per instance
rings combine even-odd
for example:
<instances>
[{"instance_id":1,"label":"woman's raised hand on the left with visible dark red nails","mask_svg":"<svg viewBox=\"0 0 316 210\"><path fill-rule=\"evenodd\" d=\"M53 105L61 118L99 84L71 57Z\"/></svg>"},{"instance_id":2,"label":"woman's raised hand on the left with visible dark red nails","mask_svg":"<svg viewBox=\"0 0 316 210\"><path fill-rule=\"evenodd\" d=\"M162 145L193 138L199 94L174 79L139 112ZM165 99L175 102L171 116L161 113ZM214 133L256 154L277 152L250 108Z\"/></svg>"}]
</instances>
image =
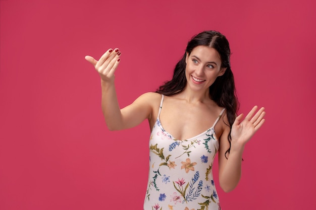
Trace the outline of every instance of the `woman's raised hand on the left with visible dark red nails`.
<instances>
[{"instance_id":1,"label":"woman's raised hand on the left with visible dark red nails","mask_svg":"<svg viewBox=\"0 0 316 210\"><path fill-rule=\"evenodd\" d=\"M99 60L87 55L85 59L89 61L99 73L101 80L104 82L113 82L114 73L120 63L121 51L119 48L109 49Z\"/></svg>"}]
</instances>

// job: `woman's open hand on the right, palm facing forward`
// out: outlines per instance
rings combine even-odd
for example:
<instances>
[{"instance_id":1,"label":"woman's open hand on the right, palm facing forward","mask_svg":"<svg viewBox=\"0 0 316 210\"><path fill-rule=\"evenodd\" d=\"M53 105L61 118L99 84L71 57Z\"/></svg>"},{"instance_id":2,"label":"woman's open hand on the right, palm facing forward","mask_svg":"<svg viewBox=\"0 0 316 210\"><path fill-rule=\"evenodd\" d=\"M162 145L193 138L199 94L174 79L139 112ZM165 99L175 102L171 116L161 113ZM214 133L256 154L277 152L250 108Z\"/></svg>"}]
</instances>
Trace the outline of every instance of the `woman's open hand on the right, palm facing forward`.
<instances>
[{"instance_id":1,"label":"woman's open hand on the right, palm facing forward","mask_svg":"<svg viewBox=\"0 0 316 210\"><path fill-rule=\"evenodd\" d=\"M257 108L254 106L243 120L243 114L236 117L231 131L232 145L245 146L253 134L264 124L265 108L262 107L255 113Z\"/></svg>"}]
</instances>

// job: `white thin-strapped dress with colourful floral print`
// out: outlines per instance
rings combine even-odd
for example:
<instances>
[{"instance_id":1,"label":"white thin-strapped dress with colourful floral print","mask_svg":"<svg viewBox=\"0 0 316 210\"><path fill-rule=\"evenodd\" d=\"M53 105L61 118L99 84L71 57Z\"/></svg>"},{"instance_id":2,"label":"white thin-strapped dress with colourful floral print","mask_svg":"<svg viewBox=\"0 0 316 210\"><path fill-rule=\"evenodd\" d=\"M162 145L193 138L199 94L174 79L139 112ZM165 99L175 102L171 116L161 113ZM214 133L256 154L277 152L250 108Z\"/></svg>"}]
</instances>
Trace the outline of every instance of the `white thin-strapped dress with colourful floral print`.
<instances>
[{"instance_id":1,"label":"white thin-strapped dress with colourful floral print","mask_svg":"<svg viewBox=\"0 0 316 210\"><path fill-rule=\"evenodd\" d=\"M149 176L144 210L221 209L212 166L219 149L214 127L185 140L175 139L157 120L149 141Z\"/></svg>"}]
</instances>

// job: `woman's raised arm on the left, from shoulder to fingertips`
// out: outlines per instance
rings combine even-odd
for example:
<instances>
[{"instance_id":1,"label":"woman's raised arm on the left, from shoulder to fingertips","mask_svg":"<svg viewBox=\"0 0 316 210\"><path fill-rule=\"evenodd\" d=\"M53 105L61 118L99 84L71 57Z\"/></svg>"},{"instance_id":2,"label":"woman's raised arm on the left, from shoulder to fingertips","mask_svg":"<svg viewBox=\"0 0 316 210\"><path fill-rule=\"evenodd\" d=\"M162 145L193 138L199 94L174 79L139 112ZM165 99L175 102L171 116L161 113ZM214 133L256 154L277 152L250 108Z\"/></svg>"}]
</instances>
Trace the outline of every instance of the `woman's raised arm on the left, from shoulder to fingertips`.
<instances>
[{"instance_id":1,"label":"woman's raised arm on the left, from shoulder to fingertips","mask_svg":"<svg viewBox=\"0 0 316 210\"><path fill-rule=\"evenodd\" d=\"M144 119L151 117L150 105L152 93L146 93L137 98L132 104L120 109L114 84L114 73L120 63L121 52L118 48L109 49L99 60L86 56L99 73L102 90L102 111L110 130L121 130L134 127Z\"/></svg>"}]
</instances>

